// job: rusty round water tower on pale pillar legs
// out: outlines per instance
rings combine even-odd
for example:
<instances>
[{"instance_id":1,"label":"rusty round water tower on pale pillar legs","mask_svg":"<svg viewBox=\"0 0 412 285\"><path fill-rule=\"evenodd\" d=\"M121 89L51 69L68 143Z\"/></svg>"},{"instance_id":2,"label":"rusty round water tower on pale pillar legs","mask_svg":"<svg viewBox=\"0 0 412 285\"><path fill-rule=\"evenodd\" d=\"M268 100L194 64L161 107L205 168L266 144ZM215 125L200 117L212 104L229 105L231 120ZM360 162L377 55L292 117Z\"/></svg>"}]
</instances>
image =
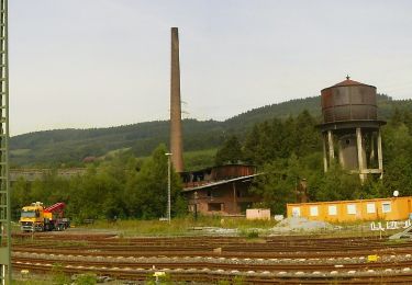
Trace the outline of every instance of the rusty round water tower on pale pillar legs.
<instances>
[{"instance_id":1,"label":"rusty round water tower on pale pillar legs","mask_svg":"<svg viewBox=\"0 0 412 285\"><path fill-rule=\"evenodd\" d=\"M324 171L334 161L359 174L383 175L382 139L378 119L376 87L350 80L321 91Z\"/></svg>"}]
</instances>

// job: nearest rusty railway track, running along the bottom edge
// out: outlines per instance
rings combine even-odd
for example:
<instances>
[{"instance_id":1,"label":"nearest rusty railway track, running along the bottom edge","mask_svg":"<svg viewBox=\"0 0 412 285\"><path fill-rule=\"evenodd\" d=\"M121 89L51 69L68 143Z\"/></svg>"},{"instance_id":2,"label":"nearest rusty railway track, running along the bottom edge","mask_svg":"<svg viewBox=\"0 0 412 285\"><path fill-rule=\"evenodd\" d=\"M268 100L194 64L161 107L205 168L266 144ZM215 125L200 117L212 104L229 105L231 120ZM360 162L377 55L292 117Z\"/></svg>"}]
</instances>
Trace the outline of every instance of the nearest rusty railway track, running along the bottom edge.
<instances>
[{"instance_id":1,"label":"nearest rusty railway track, running along the bottom edge","mask_svg":"<svg viewBox=\"0 0 412 285\"><path fill-rule=\"evenodd\" d=\"M13 263L14 269L30 270L36 273L49 273L53 270L53 264L49 263ZM147 280L147 275L155 273L158 270L144 270L144 269L131 269L131 267L111 267L105 266L83 266L83 265L65 265L63 267L65 273L78 274L87 272L98 272L101 275L112 276L119 280L129 280L135 282L144 282ZM248 271L241 273L238 271L224 271L224 270L209 270L207 267L202 270L196 269L176 269L176 270L165 270L166 273L172 276L174 281L185 281L185 282L207 282L210 284L216 283L218 281L226 280L231 281L235 276L242 276L242 281L245 284L411 284L412 274L403 272L394 272L393 274L379 273L371 275L370 273L357 275L345 274L345 275L333 275L330 274L314 274L297 276L299 272L294 274L280 274L270 272L255 272ZM299 274L300 275L300 274Z\"/></svg>"}]
</instances>

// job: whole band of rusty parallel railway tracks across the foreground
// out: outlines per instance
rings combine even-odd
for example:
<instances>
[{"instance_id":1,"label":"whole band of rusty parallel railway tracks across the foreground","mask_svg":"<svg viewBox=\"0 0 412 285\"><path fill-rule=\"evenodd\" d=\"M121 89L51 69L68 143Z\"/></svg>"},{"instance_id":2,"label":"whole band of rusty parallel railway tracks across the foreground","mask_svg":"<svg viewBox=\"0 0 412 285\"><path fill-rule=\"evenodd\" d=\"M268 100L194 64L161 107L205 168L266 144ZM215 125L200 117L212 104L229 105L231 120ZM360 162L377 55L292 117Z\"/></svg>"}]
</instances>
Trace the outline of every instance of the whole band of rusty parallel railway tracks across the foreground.
<instances>
[{"instance_id":1,"label":"whole band of rusty parallel railway tracks across the foreground","mask_svg":"<svg viewBox=\"0 0 412 285\"><path fill-rule=\"evenodd\" d=\"M51 242L53 249L47 248ZM15 270L67 274L94 272L143 282L156 271L174 281L216 283L241 276L246 284L412 283L412 242L387 239L276 237L123 238L112 235L14 237ZM379 255L367 262L367 255Z\"/></svg>"}]
</instances>

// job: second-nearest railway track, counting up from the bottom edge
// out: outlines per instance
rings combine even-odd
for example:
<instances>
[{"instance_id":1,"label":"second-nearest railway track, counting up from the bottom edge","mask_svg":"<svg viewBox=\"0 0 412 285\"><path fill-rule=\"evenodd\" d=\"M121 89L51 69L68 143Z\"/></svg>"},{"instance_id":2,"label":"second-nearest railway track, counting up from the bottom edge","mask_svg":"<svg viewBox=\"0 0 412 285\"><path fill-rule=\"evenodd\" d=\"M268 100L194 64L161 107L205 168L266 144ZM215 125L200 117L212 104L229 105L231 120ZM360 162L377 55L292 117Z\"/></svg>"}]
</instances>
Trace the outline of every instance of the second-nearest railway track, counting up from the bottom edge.
<instances>
[{"instance_id":1,"label":"second-nearest railway track, counting up from the bottom edge","mask_svg":"<svg viewBox=\"0 0 412 285\"><path fill-rule=\"evenodd\" d=\"M237 270L237 271L302 271L302 272L330 272L334 270L339 271L367 271L367 270L386 270L386 269L411 269L412 259L393 262L391 259L386 259L380 262L367 262L363 259L360 262L349 260L299 260L299 261L285 261L285 260L263 260L263 259L202 259L202 258L185 258L185 259L168 259L168 258L88 258L88 256L65 256L65 255L33 255L25 254L25 256L13 258L15 264L22 263L49 263L63 265L78 265L83 266L104 266L110 264L112 267L138 267L138 269L204 269L210 270ZM411 270L412 272L412 270Z\"/></svg>"}]
</instances>

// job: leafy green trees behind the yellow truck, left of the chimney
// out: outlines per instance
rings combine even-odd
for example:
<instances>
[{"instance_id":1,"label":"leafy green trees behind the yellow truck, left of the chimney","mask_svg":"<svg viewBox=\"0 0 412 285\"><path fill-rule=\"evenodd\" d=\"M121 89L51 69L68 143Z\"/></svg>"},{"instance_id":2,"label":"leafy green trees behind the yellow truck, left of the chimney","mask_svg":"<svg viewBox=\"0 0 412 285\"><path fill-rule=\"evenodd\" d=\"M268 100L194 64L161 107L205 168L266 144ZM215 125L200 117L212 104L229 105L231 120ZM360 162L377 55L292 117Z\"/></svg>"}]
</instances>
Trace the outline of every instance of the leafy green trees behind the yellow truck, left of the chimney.
<instances>
[{"instance_id":1,"label":"leafy green trees behind the yellow truck, left of the chimney","mask_svg":"<svg viewBox=\"0 0 412 285\"><path fill-rule=\"evenodd\" d=\"M152 157L141 161L131 151L119 153L99 166L89 166L87 173L71 179L49 172L43 179L18 180L12 186L12 213L40 201L49 206L66 203L66 213L77 221L83 219L158 218L167 208L166 147L157 147ZM172 169L171 169L172 170ZM187 204L181 195L179 175L171 171L171 214L185 215Z\"/></svg>"}]
</instances>

